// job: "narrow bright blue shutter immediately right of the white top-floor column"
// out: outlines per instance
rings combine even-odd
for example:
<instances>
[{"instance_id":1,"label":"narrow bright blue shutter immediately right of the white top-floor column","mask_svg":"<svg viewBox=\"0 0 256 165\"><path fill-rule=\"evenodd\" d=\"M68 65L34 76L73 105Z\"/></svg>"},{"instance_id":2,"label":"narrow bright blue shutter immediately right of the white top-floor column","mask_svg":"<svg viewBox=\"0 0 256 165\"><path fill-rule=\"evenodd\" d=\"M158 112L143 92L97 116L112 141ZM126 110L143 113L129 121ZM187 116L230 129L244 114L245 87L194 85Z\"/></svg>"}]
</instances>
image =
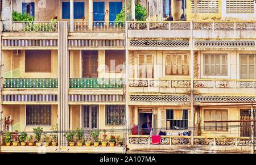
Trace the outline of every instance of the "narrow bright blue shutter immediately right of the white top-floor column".
<instances>
[{"instance_id":1,"label":"narrow bright blue shutter immediately right of the white top-floor column","mask_svg":"<svg viewBox=\"0 0 256 165\"><path fill-rule=\"evenodd\" d=\"M105 2L93 2L93 20L104 21Z\"/></svg>"}]
</instances>

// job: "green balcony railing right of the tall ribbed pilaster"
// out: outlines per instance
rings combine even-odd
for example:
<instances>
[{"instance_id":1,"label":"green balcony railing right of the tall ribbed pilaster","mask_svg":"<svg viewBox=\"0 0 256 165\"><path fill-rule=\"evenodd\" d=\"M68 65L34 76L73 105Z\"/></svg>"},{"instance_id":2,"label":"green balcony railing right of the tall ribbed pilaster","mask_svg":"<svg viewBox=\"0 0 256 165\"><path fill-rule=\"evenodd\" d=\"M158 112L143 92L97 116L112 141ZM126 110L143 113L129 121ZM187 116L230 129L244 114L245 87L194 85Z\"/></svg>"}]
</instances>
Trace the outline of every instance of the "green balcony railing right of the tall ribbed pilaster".
<instances>
[{"instance_id":1,"label":"green balcony railing right of the tall ribbed pilaster","mask_svg":"<svg viewBox=\"0 0 256 165\"><path fill-rule=\"evenodd\" d=\"M69 88L123 88L121 78L70 78Z\"/></svg>"}]
</instances>

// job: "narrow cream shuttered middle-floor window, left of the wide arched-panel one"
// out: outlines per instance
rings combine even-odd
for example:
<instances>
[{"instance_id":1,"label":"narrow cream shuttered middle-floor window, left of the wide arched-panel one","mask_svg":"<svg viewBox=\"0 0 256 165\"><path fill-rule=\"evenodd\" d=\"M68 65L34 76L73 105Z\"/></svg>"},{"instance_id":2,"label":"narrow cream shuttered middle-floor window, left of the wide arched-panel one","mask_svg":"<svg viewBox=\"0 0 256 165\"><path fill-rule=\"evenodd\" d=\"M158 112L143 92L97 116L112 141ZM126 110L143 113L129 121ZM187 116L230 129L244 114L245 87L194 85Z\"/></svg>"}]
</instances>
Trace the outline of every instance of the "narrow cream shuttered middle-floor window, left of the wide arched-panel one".
<instances>
[{"instance_id":1,"label":"narrow cream shuttered middle-floor window, left of the wide arched-panel one","mask_svg":"<svg viewBox=\"0 0 256 165\"><path fill-rule=\"evenodd\" d=\"M154 78L152 54L139 54L139 78Z\"/></svg>"}]
</instances>

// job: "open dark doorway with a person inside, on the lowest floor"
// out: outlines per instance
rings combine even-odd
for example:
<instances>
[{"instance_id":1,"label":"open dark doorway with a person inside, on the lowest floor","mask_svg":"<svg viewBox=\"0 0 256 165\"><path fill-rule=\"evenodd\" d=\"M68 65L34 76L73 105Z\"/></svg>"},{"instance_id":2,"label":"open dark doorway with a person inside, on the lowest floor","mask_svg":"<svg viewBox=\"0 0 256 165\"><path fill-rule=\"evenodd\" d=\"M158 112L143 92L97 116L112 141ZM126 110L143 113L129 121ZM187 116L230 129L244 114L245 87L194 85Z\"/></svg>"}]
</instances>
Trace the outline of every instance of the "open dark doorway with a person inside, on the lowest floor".
<instances>
[{"instance_id":1,"label":"open dark doorway with a person inside, on the lowest floor","mask_svg":"<svg viewBox=\"0 0 256 165\"><path fill-rule=\"evenodd\" d=\"M152 112L139 112L139 134L150 135L152 128Z\"/></svg>"}]
</instances>

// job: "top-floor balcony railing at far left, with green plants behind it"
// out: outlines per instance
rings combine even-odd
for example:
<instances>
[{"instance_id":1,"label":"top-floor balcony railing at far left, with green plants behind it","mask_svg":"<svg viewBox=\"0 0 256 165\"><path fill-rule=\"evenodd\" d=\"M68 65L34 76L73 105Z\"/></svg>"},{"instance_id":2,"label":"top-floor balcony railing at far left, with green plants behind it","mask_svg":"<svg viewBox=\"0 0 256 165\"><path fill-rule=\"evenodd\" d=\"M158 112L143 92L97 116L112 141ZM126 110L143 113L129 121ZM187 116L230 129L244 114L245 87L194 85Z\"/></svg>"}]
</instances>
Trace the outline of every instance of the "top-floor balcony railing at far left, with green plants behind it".
<instances>
[{"instance_id":1,"label":"top-floor balcony railing at far left, with green plants behind it","mask_svg":"<svg viewBox=\"0 0 256 165\"><path fill-rule=\"evenodd\" d=\"M3 32L57 32L57 21L4 21Z\"/></svg>"}]
</instances>

